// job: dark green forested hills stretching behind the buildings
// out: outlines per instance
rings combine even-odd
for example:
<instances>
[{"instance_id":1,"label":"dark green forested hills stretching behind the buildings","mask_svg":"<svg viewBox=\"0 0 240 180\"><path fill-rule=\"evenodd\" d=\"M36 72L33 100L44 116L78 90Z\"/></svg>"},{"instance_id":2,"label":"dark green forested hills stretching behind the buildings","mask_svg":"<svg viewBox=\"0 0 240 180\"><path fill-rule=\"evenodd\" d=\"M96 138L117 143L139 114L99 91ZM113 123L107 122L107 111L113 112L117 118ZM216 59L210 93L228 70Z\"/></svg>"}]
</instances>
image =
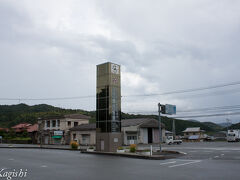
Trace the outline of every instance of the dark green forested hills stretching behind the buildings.
<instances>
[{"instance_id":1,"label":"dark green forested hills stretching behind the buildings","mask_svg":"<svg viewBox=\"0 0 240 180\"><path fill-rule=\"evenodd\" d=\"M49 116L63 116L65 114L80 113L91 116L90 122L95 122L95 111L84 111L84 110L73 110L73 109L62 109L47 104L39 104L29 106L26 104L18 105L0 105L0 127L10 128L18 123L36 123L39 117ZM134 115L122 113L122 119L133 119L133 118L154 118L158 119L156 115ZM165 124L166 129L172 131L173 119L162 116L162 122ZM176 133L181 134L187 127L200 127L206 132L216 132L222 130L221 126L212 122L199 122L199 121L187 121L187 120L175 120Z\"/></svg>"}]
</instances>

